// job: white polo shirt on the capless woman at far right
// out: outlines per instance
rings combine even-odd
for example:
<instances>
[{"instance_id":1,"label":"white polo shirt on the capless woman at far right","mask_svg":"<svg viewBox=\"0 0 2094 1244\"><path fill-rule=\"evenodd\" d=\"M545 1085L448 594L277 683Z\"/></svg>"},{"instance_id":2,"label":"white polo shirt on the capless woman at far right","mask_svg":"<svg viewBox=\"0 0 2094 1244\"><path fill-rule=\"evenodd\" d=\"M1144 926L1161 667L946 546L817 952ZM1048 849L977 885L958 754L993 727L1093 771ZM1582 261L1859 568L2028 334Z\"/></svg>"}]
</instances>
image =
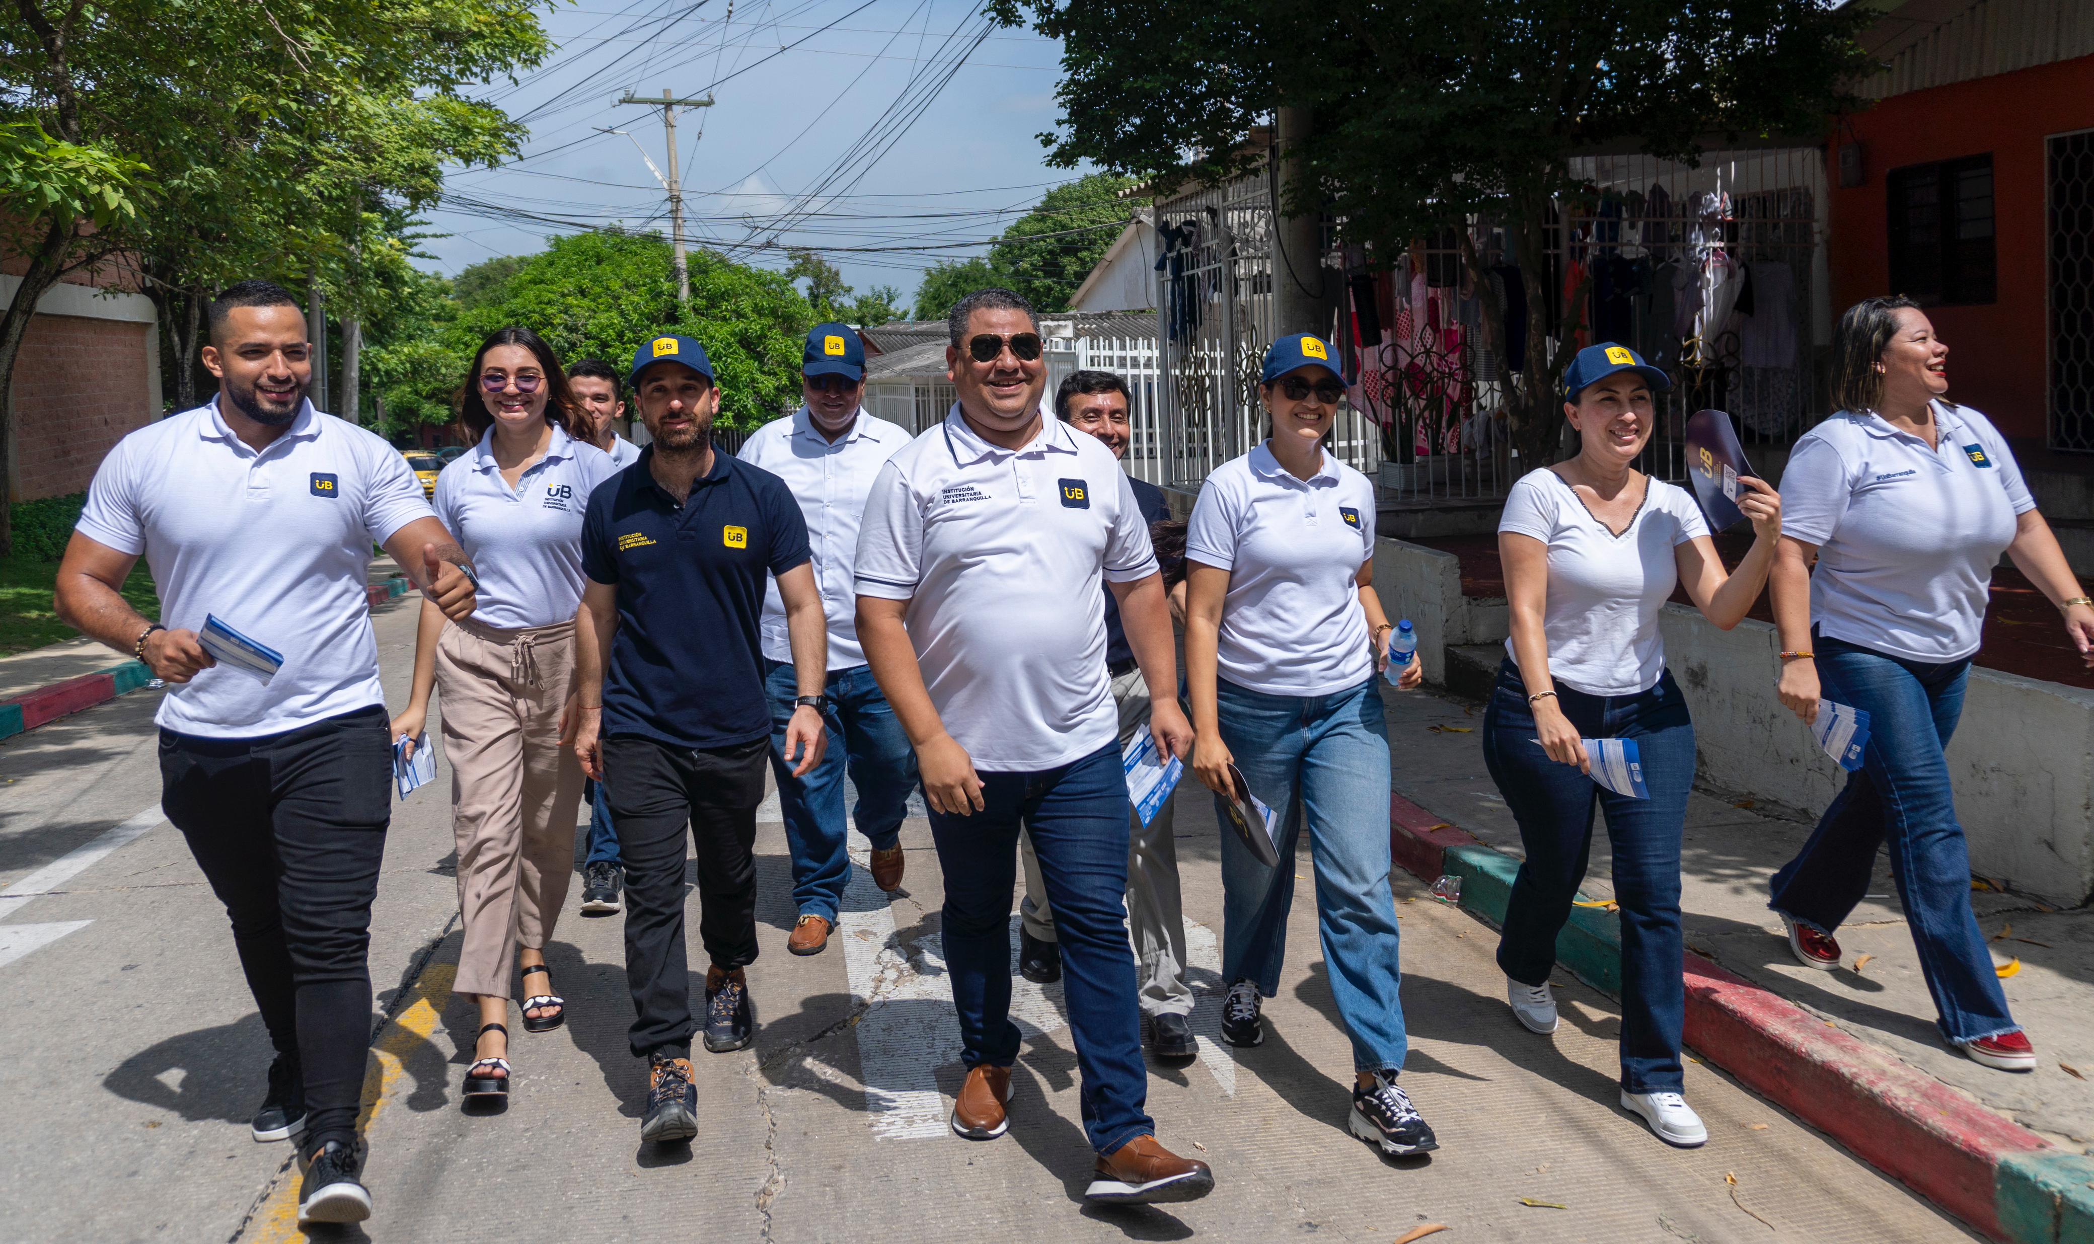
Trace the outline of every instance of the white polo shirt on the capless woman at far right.
<instances>
[{"instance_id":1,"label":"white polo shirt on the capless woman at far right","mask_svg":"<svg viewBox=\"0 0 2094 1244\"><path fill-rule=\"evenodd\" d=\"M1937 448L1874 413L1813 427L1782 471L1782 534L1818 545L1811 624L1914 662L1977 651L1991 568L2035 509L2006 438L1935 402Z\"/></svg>"}]
</instances>

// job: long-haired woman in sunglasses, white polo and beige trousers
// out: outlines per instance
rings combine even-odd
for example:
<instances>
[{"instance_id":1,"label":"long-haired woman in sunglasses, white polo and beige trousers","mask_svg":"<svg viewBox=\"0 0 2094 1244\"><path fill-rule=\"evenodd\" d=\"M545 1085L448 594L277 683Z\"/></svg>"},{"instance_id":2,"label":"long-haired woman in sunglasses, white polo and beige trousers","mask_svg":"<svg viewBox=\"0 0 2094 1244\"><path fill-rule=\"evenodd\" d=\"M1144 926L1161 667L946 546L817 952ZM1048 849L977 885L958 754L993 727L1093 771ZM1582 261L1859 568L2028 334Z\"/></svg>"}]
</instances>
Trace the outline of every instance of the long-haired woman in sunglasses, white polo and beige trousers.
<instances>
[{"instance_id":1,"label":"long-haired woman in sunglasses, white polo and beige trousers","mask_svg":"<svg viewBox=\"0 0 2094 1244\"><path fill-rule=\"evenodd\" d=\"M567 896L582 802L582 767L563 746L582 511L618 467L584 440L559 358L530 329L500 329L480 346L459 390L459 421L480 444L438 475L436 513L473 559L480 607L446 624L423 603L415 689L392 725L413 754L429 691L442 691L465 917L454 988L480 997L465 1070L471 1104L509 1095L511 957L521 957L526 978L540 976L526 991L524 1028L547 1032L565 1020L544 945Z\"/></svg>"}]
</instances>

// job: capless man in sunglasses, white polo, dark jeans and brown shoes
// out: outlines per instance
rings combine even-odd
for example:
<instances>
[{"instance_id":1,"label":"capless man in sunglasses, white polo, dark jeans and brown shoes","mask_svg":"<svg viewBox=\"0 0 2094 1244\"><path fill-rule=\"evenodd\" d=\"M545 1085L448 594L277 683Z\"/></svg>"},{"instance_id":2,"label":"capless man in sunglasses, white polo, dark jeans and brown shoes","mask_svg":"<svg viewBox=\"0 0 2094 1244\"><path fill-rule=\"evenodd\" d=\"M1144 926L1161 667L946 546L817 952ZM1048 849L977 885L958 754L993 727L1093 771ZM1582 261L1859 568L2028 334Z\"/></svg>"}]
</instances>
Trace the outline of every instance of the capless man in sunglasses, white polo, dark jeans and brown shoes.
<instances>
[{"instance_id":1,"label":"capless man in sunglasses, white polo, dark jeans and brown shoes","mask_svg":"<svg viewBox=\"0 0 2094 1244\"><path fill-rule=\"evenodd\" d=\"M1087 1196L1206 1196L1204 1162L1156 1143L1143 1110L1141 1012L1127 945L1127 775L1106 676L1099 580L1154 695L1150 729L1183 754L1162 576L1127 473L1099 440L1041 419L1039 320L1007 289L972 293L946 323L959 400L873 482L859 536L859 639L917 750L944 871L944 961L967 1079L953 1131L1009 1127L1011 884L1018 831L1062 940L1083 1127L1097 1152Z\"/></svg>"}]
</instances>

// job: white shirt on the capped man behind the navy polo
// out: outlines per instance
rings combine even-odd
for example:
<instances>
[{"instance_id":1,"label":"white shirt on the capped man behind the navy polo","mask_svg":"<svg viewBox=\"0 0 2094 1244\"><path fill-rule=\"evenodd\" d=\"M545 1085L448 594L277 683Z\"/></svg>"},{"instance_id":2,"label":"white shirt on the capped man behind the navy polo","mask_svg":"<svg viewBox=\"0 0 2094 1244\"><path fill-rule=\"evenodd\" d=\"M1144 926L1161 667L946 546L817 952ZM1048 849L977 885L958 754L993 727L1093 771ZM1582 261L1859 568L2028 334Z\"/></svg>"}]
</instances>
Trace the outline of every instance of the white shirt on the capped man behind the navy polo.
<instances>
[{"instance_id":1,"label":"white shirt on the capped man behind the navy polo","mask_svg":"<svg viewBox=\"0 0 2094 1244\"><path fill-rule=\"evenodd\" d=\"M865 496L873 477L909 444L909 429L886 419L873 419L859 408L850 431L829 440L817 427L806 406L785 419L758 427L741 452L752 467L771 471L792 488L806 515L806 542L815 555L815 584L821 588L821 612L829 620L829 668L848 670L865 664L859 647L859 521L865 517ZM785 601L777 578L764 580L764 618L760 624L764 656L792 664L792 637L785 632Z\"/></svg>"}]
</instances>

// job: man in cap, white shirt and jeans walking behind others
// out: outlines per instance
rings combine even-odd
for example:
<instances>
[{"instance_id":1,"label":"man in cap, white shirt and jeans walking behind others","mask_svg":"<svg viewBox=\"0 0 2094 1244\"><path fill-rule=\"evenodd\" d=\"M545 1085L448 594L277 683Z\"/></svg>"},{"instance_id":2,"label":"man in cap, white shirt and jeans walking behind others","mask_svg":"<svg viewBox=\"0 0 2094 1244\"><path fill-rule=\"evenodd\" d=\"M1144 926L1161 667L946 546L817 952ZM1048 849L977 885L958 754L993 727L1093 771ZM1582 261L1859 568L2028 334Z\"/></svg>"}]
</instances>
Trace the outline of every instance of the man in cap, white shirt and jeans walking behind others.
<instances>
[{"instance_id":1,"label":"man in cap, white shirt and jeans walking behind others","mask_svg":"<svg viewBox=\"0 0 2094 1244\"><path fill-rule=\"evenodd\" d=\"M777 582L764 586L762 653L764 691L771 695L771 773L779 783L785 844L792 852L794 903L800 919L785 949L819 955L829 945L836 913L850 882L846 852L844 773L859 787L859 834L871 842L873 884L903 884L900 827L915 787L915 752L888 697L879 693L859 647L852 568L859 557L859 519L873 475L909 444L909 431L865 413L865 343L850 325L815 325L800 354L800 390L806 404L794 415L758 427L741 446L741 461L762 467L800 501L806 540L815 555L815 582L829 622L829 664L823 718L829 752L804 777L785 758L785 727L800 695L785 601Z\"/></svg>"}]
</instances>

